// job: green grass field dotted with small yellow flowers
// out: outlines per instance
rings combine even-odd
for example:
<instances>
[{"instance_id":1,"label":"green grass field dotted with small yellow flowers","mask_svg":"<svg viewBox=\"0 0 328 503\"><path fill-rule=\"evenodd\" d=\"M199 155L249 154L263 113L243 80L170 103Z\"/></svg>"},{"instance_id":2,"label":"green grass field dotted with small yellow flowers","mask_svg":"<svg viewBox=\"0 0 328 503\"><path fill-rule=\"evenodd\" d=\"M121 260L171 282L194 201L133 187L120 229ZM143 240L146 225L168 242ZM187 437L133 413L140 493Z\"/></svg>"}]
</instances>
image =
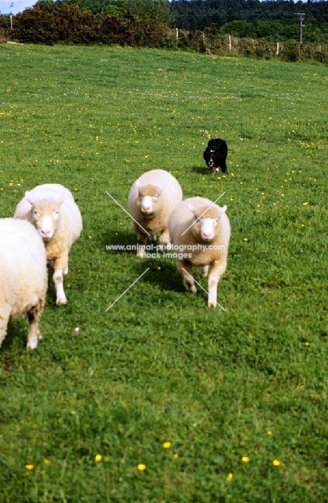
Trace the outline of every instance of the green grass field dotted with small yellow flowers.
<instances>
[{"instance_id":1,"label":"green grass field dotted with small yellow flowers","mask_svg":"<svg viewBox=\"0 0 328 503\"><path fill-rule=\"evenodd\" d=\"M68 304L50 278L37 350L27 319L0 350L0 501L328 501L328 69L2 44L0 75L0 216L60 183L84 219ZM228 176L208 172L209 135ZM155 168L184 198L225 192L226 312L174 260L106 250L136 243L106 191L127 208Z\"/></svg>"}]
</instances>

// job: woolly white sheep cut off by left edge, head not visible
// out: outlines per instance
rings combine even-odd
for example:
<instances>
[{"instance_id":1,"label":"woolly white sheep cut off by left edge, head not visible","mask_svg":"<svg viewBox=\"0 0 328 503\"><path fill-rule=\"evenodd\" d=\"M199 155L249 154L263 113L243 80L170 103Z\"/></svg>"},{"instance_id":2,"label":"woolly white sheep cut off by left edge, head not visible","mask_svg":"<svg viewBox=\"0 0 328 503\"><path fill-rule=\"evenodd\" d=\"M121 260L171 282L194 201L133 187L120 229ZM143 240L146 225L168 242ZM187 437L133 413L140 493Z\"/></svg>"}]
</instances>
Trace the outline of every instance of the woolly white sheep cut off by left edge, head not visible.
<instances>
[{"instance_id":1,"label":"woolly white sheep cut off by left edge, head not visible","mask_svg":"<svg viewBox=\"0 0 328 503\"><path fill-rule=\"evenodd\" d=\"M27 349L41 334L38 321L47 291L47 257L41 237L29 222L0 219L0 346L8 321L27 314Z\"/></svg>"}]
</instances>

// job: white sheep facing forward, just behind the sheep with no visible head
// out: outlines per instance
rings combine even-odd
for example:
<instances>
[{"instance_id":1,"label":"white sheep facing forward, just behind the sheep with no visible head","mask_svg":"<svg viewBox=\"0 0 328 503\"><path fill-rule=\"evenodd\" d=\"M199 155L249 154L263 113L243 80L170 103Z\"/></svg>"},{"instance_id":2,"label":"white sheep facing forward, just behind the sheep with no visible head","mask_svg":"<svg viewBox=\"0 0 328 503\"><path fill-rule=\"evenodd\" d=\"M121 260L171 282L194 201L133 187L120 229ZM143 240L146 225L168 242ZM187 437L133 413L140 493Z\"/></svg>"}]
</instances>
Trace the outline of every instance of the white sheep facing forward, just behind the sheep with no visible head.
<instances>
[{"instance_id":1,"label":"white sheep facing forward, just behind the sheep with no visible head","mask_svg":"<svg viewBox=\"0 0 328 503\"><path fill-rule=\"evenodd\" d=\"M59 184L39 185L25 193L14 218L29 220L38 230L54 269L56 304L66 304L63 274L68 273L70 247L82 230L81 214L72 194Z\"/></svg>"}]
</instances>

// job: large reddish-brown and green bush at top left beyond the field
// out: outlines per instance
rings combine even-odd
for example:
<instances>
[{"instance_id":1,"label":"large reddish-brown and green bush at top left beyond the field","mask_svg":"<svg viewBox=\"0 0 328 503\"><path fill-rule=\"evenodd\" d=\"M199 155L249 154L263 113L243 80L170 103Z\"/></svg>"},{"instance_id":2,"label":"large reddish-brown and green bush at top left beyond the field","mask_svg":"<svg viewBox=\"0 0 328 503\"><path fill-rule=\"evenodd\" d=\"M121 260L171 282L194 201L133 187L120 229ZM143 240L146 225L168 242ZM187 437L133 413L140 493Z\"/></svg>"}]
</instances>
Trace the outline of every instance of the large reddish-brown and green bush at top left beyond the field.
<instances>
[{"instance_id":1,"label":"large reddish-brown and green bush at top left beyond the field","mask_svg":"<svg viewBox=\"0 0 328 503\"><path fill-rule=\"evenodd\" d=\"M39 2L15 17L13 36L20 42L53 45L58 42L161 46L168 29L154 17L131 12L92 13L78 4Z\"/></svg>"}]
</instances>

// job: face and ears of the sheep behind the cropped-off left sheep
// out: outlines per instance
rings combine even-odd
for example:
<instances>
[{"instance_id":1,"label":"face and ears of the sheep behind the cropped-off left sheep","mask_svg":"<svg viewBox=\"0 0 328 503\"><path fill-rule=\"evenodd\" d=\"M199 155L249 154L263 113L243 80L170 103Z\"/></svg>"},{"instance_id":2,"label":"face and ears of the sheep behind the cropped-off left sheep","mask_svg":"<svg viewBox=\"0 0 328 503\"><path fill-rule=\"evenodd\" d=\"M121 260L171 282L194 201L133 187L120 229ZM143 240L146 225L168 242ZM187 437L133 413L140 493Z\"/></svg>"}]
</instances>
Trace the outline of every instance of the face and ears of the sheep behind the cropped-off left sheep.
<instances>
[{"instance_id":1,"label":"face and ears of the sheep behind the cropped-off left sheep","mask_svg":"<svg viewBox=\"0 0 328 503\"><path fill-rule=\"evenodd\" d=\"M65 195L57 201L44 199L43 201L33 201L27 195L27 200L31 204L33 225L44 241L52 238L59 226L60 205L64 202Z\"/></svg>"}]
</instances>

